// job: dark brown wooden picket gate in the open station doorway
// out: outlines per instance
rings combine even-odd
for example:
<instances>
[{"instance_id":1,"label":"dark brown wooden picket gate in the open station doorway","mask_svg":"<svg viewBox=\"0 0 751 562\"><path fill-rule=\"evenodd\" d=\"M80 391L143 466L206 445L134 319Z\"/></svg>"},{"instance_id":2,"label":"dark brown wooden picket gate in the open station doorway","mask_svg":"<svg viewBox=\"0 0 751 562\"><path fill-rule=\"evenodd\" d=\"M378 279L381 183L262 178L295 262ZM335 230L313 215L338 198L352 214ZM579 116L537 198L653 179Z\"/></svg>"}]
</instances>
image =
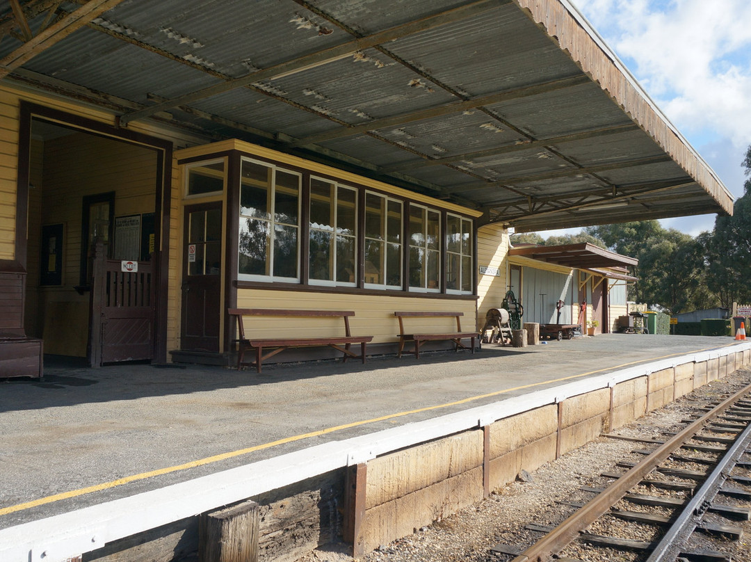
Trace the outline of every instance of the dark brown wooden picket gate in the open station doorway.
<instances>
[{"instance_id":1,"label":"dark brown wooden picket gate in the open station doorway","mask_svg":"<svg viewBox=\"0 0 751 562\"><path fill-rule=\"evenodd\" d=\"M104 259L104 246L97 244L92 266L89 363L98 367L117 361L152 360L153 260L139 261L137 271L122 271L122 262Z\"/></svg>"}]
</instances>

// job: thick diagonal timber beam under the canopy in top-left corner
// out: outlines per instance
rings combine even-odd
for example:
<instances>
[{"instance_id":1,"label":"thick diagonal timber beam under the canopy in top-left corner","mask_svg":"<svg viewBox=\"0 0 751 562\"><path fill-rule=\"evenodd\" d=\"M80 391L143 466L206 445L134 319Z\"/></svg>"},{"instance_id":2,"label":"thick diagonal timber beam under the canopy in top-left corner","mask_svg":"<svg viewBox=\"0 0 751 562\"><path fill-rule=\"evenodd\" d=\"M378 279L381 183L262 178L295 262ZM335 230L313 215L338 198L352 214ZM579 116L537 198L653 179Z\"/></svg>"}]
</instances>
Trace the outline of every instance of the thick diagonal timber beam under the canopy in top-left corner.
<instances>
[{"instance_id":1,"label":"thick diagonal timber beam under the canopy in top-left corner","mask_svg":"<svg viewBox=\"0 0 751 562\"><path fill-rule=\"evenodd\" d=\"M95 17L114 8L123 0L89 0L77 10L63 17L53 26L44 29L33 38L26 41L8 56L0 60L0 79L8 76L14 69L37 56L42 51L62 41L77 29L85 26Z\"/></svg>"}]
</instances>

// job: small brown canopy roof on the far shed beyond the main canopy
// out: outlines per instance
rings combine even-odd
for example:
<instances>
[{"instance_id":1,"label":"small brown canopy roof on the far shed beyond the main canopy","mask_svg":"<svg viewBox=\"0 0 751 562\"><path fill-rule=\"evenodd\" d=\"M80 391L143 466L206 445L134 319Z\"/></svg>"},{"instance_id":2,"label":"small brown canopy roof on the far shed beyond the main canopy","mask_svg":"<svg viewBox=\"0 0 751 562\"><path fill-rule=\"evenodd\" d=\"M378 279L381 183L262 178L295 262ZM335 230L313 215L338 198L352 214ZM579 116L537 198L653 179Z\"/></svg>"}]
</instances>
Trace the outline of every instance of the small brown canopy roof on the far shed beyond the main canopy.
<instances>
[{"instance_id":1,"label":"small brown canopy roof on the far shed beyond the main canopy","mask_svg":"<svg viewBox=\"0 0 751 562\"><path fill-rule=\"evenodd\" d=\"M572 267L572 269L628 267L639 263L637 258L611 252L589 242L563 246L518 246L508 250L508 255L547 261L547 263Z\"/></svg>"}]
</instances>

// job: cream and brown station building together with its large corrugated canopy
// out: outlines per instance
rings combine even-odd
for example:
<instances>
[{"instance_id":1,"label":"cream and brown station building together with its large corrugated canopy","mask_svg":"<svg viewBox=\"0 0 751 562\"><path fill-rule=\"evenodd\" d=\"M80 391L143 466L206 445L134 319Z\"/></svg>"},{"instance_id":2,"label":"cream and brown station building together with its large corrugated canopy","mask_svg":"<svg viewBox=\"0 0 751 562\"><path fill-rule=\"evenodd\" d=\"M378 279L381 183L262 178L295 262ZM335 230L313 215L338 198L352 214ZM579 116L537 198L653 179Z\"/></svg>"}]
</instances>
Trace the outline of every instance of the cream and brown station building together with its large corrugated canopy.
<instances>
[{"instance_id":1,"label":"cream and brown station building together with its large corrugated canopy","mask_svg":"<svg viewBox=\"0 0 751 562\"><path fill-rule=\"evenodd\" d=\"M225 362L237 305L385 350L508 227L732 207L567 0L0 0L0 130L8 361Z\"/></svg>"}]
</instances>

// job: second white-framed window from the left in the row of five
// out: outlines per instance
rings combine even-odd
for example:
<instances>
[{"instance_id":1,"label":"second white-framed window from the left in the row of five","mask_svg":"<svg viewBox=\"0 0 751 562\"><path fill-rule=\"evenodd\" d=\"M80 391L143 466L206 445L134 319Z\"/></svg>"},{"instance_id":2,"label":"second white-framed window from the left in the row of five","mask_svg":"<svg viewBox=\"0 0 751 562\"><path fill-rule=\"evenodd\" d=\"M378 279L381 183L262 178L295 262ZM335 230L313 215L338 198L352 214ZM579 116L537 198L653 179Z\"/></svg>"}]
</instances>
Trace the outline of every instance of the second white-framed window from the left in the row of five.
<instances>
[{"instance_id":1,"label":"second white-framed window from the left in the row of five","mask_svg":"<svg viewBox=\"0 0 751 562\"><path fill-rule=\"evenodd\" d=\"M311 283L357 283L357 190L311 178L309 278Z\"/></svg>"}]
</instances>

